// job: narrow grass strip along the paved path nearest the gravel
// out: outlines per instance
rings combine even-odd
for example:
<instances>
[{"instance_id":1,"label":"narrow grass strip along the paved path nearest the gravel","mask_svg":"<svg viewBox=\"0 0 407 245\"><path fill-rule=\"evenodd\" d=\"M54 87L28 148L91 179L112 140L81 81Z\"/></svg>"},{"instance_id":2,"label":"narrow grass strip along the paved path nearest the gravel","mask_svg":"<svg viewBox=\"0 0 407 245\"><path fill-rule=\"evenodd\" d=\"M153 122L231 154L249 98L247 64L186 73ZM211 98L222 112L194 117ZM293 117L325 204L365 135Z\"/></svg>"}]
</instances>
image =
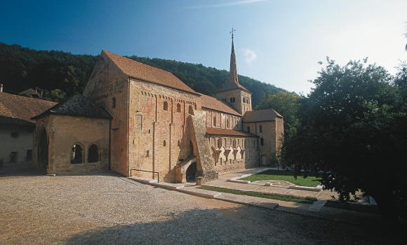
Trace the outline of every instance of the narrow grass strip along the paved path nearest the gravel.
<instances>
[{"instance_id":1,"label":"narrow grass strip along the paved path nearest the gravel","mask_svg":"<svg viewBox=\"0 0 407 245\"><path fill-rule=\"evenodd\" d=\"M254 191L233 190L233 189L213 187L213 186L199 186L199 189L213 190L213 191L218 191L220 193L246 195L246 196L251 196L251 197L262 197L262 198L287 201L287 202L300 202L300 203L305 203L305 204L312 204L312 202L316 201L315 197L295 197L292 195L265 194L265 193L256 193Z\"/></svg>"}]
</instances>

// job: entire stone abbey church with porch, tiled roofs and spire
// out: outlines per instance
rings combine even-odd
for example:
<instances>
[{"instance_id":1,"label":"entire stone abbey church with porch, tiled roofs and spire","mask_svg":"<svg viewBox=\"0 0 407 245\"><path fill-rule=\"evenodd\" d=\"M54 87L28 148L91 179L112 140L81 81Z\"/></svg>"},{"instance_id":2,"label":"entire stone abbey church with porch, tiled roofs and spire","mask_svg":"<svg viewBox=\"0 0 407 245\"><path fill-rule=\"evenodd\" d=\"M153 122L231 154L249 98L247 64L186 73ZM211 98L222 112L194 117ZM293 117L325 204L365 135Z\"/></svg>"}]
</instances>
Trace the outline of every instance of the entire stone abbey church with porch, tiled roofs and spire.
<instances>
[{"instance_id":1,"label":"entire stone abbey church with porch, tiled roofs and spire","mask_svg":"<svg viewBox=\"0 0 407 245\"><path fill-rule=\"evenodd\" d=\"M166 182L270 165L283 117L253 111L251 102L238 80L233 40L229 80L216 98L104 50L83 94L32 118L32 159L48 174L112 169Z\"/></svg>"}]
</instances>

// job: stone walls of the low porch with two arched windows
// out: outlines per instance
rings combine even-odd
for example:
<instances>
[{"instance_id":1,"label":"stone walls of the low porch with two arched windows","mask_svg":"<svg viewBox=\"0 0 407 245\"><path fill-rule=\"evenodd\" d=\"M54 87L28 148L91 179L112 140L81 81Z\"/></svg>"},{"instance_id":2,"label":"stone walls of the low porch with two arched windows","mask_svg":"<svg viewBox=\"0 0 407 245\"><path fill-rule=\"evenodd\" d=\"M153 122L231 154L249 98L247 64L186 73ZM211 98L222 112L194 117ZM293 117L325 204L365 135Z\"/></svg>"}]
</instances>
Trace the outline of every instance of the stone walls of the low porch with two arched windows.
<instances>
[{"instance_id":1,"label":"stone walls of the low porch with two arched windows","mask_svg":"<svg viewBox=\"0 0 407 245\"><path fill-rule=\"evenodd\" d=\"M41 132L48 139L48 174L84 172L109 168L109 120L63 115L50 115L36 121L34 162L37 167ZM72 164L72 147L81 147L82 162ZM98 148L98 161L89 162L90 146Z\"/></svg>"}]
</instances>

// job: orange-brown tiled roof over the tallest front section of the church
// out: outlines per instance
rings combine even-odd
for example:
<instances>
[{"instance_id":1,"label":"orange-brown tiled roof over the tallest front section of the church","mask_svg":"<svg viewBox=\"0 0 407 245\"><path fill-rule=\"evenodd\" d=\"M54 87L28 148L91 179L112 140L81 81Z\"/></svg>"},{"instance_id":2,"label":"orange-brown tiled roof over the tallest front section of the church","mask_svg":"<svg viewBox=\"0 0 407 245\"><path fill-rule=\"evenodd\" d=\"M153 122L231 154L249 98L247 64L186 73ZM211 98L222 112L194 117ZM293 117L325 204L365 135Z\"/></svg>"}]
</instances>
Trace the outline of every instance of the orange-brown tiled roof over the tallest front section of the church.
<instances>
[{"instance_id":1,"label":"orange-brown tiled roof over the tallest front section of the church","mask_svg":"<svg viewBox=\"0 0 407 245\"><path fill-rule=\"evenodd\" d=\"M188 87L188 85L183 83L182 80L174 76L171 72L164 71L147 64L142 64L133 59L128 59L120 55L115 55L107 50L103 50L102 53L107 55L109 59L112 59L114 64L116 64L121 71L131 78L145 80L150 83L156 83L166 87L175 88L176 90L197 94L197 92L192 90L191 87Z\"/></svg>"}]
</instances>

